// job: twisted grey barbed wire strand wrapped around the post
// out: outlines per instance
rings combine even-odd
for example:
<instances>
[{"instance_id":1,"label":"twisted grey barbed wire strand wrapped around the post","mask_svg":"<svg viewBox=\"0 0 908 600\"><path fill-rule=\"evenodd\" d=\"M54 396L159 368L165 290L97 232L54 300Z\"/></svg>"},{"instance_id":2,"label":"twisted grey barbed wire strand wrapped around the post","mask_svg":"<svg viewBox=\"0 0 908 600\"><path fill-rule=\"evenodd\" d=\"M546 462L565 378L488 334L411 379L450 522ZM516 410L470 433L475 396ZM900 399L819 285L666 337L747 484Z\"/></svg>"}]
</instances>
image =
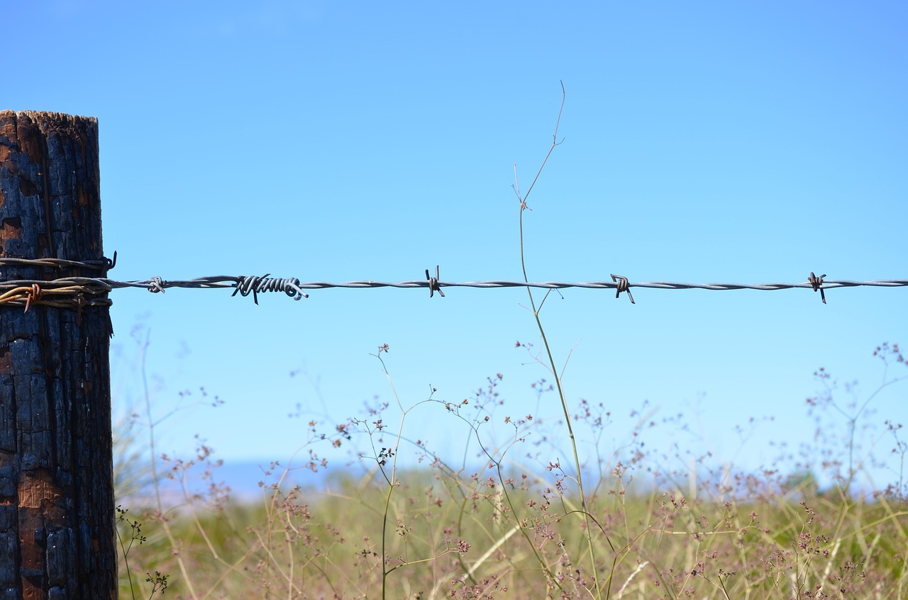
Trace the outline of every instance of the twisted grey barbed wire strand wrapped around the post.
<instances>
[{"instance_id":1,"label":"twisted grey barbed wire strand wrapped around the post","mask_svg":"<svg viewBox=\"0 0 908 600\"><path fill-rule=\"evenodd\" d=\"M94 270L106 271L113 268L116 264L116 254L114 260L104 258L96 261L69 261L52 258L25 259L25 258L0 258L0 267L18 266L18 267L42 267L42 268L91 268ZM859 281L853 279L832 279L824 280L825 275L815 276L811 273L804 282L794 284L787 283L770 283L770 284L724 284L724 283L706 283L690 284L671 281L643 281L630 282L625 276L611 275L611 281L582 281L582 282L563 282L563 281L544 281L544 282L525 282L509 280L492 280L492 281L465 281L465 282L446 282L439 280L439 266L435 267L435 276L429 274L426 269L426 278L411 281L346 281L342 283L331 283L323 281L301 282L296 277L271 277L270 273L263 276L205 276L194 279L163 279L155 276L149 279L135 281L118 281L107 277L61 277L51 280L40 279L12 279L0 281L0 305L25 306L25 311L31 305L51 305L56 307L68 307L78 309L80 312L85 306L111 305L107 294L114 289L126 287L139 287L153 293L163 293L168 288L183 287L194 289L232 289L232 295L252 295L255 304L259 304L259 294L267 292L279 292L292 297L294 300L300 300L303 297L309 297L303 290L328 289L328 288L376 288L376 287L428 287L429 297L438 292L444 297L442 287L474 287L474 288L494 288L494 287L531 287L537 289L558 290L570 287L587 288L587 289L608 289L615 290L615 297L619 297L622 292L627 292L627 297L631 303L636 304L634 296L631 295L630 288L641 287L651 289L703 289L703 290L761 290L775 291L792 288L809 288L814 292L820 292L823 303L826 302L825 290L838 287L901 287L908 285L908 279L875 279L869 281Z\"/></svg>"}]
</instances>

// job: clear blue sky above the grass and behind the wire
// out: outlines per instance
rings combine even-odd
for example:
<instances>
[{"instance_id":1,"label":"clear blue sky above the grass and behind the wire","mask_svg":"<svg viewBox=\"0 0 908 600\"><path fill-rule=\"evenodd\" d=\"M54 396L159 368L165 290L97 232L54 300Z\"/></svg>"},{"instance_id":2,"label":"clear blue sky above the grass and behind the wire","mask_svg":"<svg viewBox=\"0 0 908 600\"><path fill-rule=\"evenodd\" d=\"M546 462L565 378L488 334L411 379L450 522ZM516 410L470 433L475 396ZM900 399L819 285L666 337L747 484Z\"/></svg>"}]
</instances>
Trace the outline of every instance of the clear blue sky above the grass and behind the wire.
<instances>
[{"instance_id":1,"label":"clear blue sky above the grass and behind the wire","mask_svg":"<svg viewBox=\"0 0 908 600\"><path fill-rule=\"evenodd\" d=\"M9 3L0 105L96 115L104 248L118 279L800 282L908 276L908 8L901 2ZM150 332L155 410L203 386L224 402L165 421L227 461L287 460L308 419L378 395L458 401L502 373L510 411L545 376L525 290L231 297L120 290L114 404L141 398L131 331ZM871 357L908 344L908 289L566 290L542 312L568 399L619 417L685 414L653 443L768 465L810 443L824 366L873 392ZM291 377L290 373L301 373ZM304 375L303 373L306 373ZM308 377L307 377L308 375ZM313 382L315 382L313 384ZM905 384L870 422L908 422ZM198 398L198 393L192 396ZM841 402L847 402L842 397ZM544 399L537 416L558 414ZM744 446L732 431L758 423ZM414 437L462 451L438 407ZM826 436L840 443L844 430ZM844 443L844 442L843 442ZM880 442L881 456L889 440ZM343 449L342 449L343 450ZM693 450L692 450L693 451ZM343 456L338 455L338 456ZM334 460L334 457L330 455ZM340 459L338 459L340 460Z\"/></svg>"}]
</instances>

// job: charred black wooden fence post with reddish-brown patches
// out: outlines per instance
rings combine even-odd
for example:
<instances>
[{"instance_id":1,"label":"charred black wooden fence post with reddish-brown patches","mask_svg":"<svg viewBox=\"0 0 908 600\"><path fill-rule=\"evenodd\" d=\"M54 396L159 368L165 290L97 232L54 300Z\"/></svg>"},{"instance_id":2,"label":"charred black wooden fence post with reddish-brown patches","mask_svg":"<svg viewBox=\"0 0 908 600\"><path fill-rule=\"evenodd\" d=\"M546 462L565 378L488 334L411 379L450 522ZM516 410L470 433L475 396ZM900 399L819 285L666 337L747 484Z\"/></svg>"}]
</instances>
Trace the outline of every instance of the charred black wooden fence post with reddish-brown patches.
<instances>
[{"instance_id":1,"label":"charred black wooden fence post with reddish-brown patches","mask_svg":"<svg viewBox=\"0 0 908 600\"><path fill-rule=\"evenodd\" d=\"M109 301L40 283L105 276L99 170L95 118L0 111L0 600L116 597Z\"/></svg>"}]
</instances>

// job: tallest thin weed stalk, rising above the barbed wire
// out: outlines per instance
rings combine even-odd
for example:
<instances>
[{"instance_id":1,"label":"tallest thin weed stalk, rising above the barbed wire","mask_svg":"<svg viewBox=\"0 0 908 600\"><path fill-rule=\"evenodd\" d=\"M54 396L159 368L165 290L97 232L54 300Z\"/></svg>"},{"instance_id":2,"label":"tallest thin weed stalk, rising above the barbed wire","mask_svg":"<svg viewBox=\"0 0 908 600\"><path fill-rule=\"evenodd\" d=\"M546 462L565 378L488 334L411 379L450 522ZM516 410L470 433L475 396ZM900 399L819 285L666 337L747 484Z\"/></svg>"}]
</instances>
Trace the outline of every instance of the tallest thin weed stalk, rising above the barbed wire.
<instances>
[{"instance_id":1,"label":"tallest thin weed stalk, rising above the barbed wire","mask_svg":"<svg viewBox=\"0 0 908 600\"><path fill-rule=\"evenodd\" d=\"M527 261L526 261L526 255L524 252L523 215L524 215L524 211L528 208L527 199L529 198L530 193L532 193L533 188L536 186L536 182L538 181L539 176L542 174L542 169L546 168L546 163L548 163L549 157L552 155L552 152L555 150L555 148L561 143L560 141L558 141L558 126L561 124L561 112L564 111L566 97L567 97L567 93L565 92L564 82L562 82L561 83L561 106L558 108L558 120L555 122L555 131L552 134L552 145L549 146L548 153L546 154L546 158L543 159L542 164L539 165L539 169L536 171L536 176L533 178L533 182L530 184L529 188L527 189L526 194L521 194L521 192L520 192L520 185L519 185L519 181L518 181L518 177L517 177L517 165L514 165L514 192L517 194L517 198L519 201L520 268L523 271L523 280L526 283L529 283L529 277L527 276ZM542 321L539 318L539 311L542 309L542 305L545 304L546 298L548 298L548 293L550 291L551 290L549 290L546 293L546 295L543 296L542 300L539 302L539 305L537 306L536 298L533 296L533 290L529 285L527 286L527 295L529 296L529 305L533 311L533 317L536 319L536 326L538 327L538 330L539 330L539 336L542 338L542 344L546 349L546 357L548 359L548 369L552 373L552 376L555 377L555 385L558 390L558 399L561 401L561 409L562 409L562 411L564 411L565 423L568 425L568 438L570 439L571 450L573 450L573 453L574 453L574 467L575 467L575 469L577 469L577 492L580 495L580 508L581 508L580 511L582 512L583 519L584 519L585 533L586 533L586 537L587 537L587 547L589 550L589 562L593 569L594 589L593 589L592 595L595 598L601 598L603 590L602 590L602 586L600 585L600 582L599 582L599 575L598 575L597 562L596 562L596 547L595 547L595 544L593 543L593 530L591 527L591 525L592 525L591 521L594 519L591 518L591 515L589 514L589 510L587 508L587 496L584 493L584 489L583 489L583 474L581 473L581 468L580 468L580 457L579 457L579 454L577 453L577 440L574 438L574 429L573 429L572 422L571 422L571 415L570 415L570 410L568 408L568 401L565 398L564 388L561 385L561 375L558 373L558 367L556 367L556 365L555 365L555 359L552 356L551 348L548 345L548 338L546 337L546 330L542 326ZM603 532L603 535L606 535L605 532ZM606 539L608 541L609 546L611 546L611 540L608 540L607 536L606 536ZM610 581L611 581L611 577L609 577L609 582ZM606 594L606 597L607 596L608 596L608 594Z\"/></svg>"}]
</instances>

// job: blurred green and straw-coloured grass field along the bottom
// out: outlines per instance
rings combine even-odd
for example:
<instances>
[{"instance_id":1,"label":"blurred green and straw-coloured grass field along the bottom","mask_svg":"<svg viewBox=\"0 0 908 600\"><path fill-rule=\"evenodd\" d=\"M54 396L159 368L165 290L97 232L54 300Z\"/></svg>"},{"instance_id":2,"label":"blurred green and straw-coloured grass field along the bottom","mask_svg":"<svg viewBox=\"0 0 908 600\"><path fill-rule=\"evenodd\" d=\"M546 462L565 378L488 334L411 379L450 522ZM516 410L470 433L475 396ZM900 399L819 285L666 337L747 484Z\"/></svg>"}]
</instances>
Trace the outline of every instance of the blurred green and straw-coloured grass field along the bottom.
<instances>
[{"instance_id":1,"label":"blurred green and straw-coloured grass field along the bottom","mask_svg":"<svg viewBox=\"0 0 908 600\"><path fill-rule=\"evenodd\" d=\"M685 495L628 489L616 468L587 501L550 481L440 463L341 479L330 491L268 489L262 506L195 498L139 516L137 574L169 576L176 597L902 598L908 507L878 494L820 492L810 477L735 474ZM642 486L637 486L637 488ZM132 515L121 524L128 539ZM592 569L596 568L598 592ZM139 579L143 579L140 576ZM122 597L131 597L121 568Z\"/></svg>"}]
</instances>

